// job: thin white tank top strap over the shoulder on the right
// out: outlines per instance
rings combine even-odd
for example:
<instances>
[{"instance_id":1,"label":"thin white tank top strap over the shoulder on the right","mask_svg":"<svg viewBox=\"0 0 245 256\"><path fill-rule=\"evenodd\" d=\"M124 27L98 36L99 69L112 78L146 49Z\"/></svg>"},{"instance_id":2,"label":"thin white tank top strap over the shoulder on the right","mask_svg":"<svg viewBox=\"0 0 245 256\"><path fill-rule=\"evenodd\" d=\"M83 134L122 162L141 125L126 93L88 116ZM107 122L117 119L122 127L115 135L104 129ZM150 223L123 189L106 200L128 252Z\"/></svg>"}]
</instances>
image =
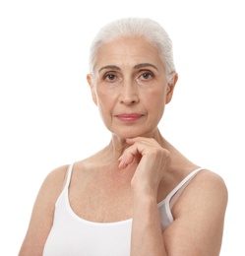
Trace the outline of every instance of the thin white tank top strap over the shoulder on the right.
<instances>
[{"instance_id":1,"label":"thin white tank top strap over the shoulder on the right","mask_svg":"<svg viewBox=\"0 0 245 256\"><path fill-rule=\"evenodd\" d=\"M170 204L170 209L177 201L180 194L183 192L183 190L187 187L189 182L195 177L195 175L204 168L197 168L193 170L189 175L187 175L166 197L166 201Z\"/></svg>"}]
</instances>

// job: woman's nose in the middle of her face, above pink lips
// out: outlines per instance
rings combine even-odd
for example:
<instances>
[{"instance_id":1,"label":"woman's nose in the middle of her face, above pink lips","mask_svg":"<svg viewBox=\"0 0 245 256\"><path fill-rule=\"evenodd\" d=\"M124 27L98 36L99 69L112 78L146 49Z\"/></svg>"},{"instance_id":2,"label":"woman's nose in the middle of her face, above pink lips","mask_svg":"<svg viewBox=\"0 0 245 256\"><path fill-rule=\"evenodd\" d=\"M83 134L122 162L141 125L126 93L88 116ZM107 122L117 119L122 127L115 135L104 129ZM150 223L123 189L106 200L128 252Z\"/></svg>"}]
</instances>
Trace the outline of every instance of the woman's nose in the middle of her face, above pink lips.
<instances>
[{"instance_id":1,"label":"woman's nose in the middle of her face, above pink lips","mask_svg":"<svg viewBox=\"0 0 245 256\"><path fill-rule=\"evenodd\" d=\"M124 83L121 88L120 102L127 105L139 102L137 85L134 83Z\"/></svg>"}]
</instances>

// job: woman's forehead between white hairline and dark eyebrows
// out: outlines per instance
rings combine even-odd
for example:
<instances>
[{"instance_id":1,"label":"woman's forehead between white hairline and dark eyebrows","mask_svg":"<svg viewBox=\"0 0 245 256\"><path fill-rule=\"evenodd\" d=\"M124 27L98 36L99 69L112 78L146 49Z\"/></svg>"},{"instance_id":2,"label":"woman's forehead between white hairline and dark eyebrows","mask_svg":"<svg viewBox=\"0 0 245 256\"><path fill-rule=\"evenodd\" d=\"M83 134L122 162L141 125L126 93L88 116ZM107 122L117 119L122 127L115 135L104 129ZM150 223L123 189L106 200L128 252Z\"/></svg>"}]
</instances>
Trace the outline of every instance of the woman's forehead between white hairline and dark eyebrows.
<instances>
[{"instance_id":1,"label":"woman's forehead between white hairline and dark eyebrows","mask_svg":"<svg viewBox=\"0 0 245 256\"><path fill-rule=\"evenodd\" d=\"M120 68L151 63L159 70L163 63L159 51L142 36L124 36L103 44L97 51L94 71L102 66L116 65Z\"/></svg>"}]
</instances>

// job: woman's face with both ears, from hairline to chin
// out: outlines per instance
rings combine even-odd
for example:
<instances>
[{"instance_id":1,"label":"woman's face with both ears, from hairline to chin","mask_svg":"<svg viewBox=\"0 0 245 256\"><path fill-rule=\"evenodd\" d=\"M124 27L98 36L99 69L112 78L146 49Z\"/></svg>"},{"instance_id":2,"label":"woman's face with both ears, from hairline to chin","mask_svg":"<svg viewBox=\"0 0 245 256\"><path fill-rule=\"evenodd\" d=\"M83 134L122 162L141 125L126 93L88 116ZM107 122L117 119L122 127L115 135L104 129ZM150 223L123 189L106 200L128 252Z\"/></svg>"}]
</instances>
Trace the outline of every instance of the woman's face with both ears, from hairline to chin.
<instances>
[{"instance_id":1,"label":"woman's face with both ears, from hairline to chin","mask_svg":"<svg viewBox=\"0 0 245 256\"><path fill-rule=\"evenodd\" d=\"M105 126L126 139L153 137L176 78L167 83L152 44L142 37L123 37L99 48L88 82Z\"/></svg>"}]
</instances>

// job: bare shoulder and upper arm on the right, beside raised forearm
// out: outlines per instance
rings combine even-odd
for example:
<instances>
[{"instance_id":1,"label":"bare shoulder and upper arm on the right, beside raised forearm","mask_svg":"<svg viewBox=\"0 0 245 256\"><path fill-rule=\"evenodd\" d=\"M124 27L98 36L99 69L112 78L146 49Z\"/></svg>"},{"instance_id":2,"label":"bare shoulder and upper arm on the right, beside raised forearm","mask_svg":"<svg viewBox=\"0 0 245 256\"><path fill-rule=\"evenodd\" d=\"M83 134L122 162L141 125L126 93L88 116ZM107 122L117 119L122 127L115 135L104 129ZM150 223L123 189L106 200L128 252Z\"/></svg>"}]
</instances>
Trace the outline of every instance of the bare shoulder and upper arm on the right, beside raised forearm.
<instances>
[{"instance_id":1,"label":"bare shoulder and upper arm on the right, beside raised forearm","mask_svg":"<svg viewBox=\"0 0 245 256\"><path fill-rule=\"evenodd\" d=\"M174 222L164 233L173 255L219 255L227 199L217 173L202 170L193 178L173 206Z\"/></svg>"}]
</instances>

